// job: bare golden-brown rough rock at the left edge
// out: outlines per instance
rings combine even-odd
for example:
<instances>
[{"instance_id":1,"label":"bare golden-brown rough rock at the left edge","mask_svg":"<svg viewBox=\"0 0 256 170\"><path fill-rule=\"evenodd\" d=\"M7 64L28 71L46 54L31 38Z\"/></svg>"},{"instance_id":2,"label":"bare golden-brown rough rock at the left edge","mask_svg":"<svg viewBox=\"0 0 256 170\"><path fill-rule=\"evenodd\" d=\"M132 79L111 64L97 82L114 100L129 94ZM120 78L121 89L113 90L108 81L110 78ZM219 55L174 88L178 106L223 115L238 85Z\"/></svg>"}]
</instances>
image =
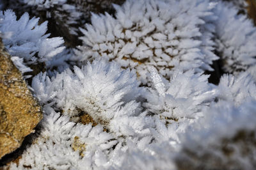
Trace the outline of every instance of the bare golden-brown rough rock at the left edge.
<instances>
[{"instance_id":1,"label":"bare golden-brown rough rock at the left edge","mask_svg":"<svg viewBox=\"0 0 256 170\"><path fill-rule=\"evenodd\" d=\"M0 158L19 148L41 119L40 105L0 40Z\"/></svg>"}]
</instances>

